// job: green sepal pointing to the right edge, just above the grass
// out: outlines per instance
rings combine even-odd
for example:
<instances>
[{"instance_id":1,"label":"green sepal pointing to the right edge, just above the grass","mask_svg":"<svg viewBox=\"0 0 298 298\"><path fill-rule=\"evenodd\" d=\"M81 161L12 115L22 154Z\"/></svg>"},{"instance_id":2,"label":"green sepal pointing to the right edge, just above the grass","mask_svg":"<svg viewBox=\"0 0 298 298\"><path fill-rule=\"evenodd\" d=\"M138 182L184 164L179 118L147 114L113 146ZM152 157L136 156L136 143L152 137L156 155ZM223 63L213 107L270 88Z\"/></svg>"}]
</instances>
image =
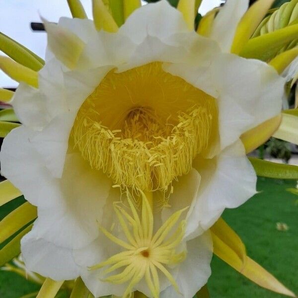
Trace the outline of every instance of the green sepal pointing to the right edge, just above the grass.
<instances>
[{"instance_id":1,"label":"green sepal pointing to the right edge, just above the grass","mask_svg":"<svg viewBox=\"0 0 298 298\"><path fill-rule=\"evenodd\" d=\"M277 163L255 157L248 157L248 159L258 176L274 179L298 179L297 165Z\"/></svg>"}]
</instances>

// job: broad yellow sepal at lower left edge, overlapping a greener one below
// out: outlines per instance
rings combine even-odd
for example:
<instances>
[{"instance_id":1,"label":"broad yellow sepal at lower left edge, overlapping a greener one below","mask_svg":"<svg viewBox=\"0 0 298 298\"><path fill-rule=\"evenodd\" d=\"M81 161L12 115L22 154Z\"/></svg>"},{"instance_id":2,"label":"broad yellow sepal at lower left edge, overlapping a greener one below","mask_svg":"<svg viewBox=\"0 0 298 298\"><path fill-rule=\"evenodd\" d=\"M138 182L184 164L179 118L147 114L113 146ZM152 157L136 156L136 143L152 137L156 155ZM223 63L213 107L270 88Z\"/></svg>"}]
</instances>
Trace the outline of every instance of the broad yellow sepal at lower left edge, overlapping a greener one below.
<instances>
[{"instance_id":1,"label":"broad yellow sepal at lower left edge, overlapping a greener one below","mask_svg":"<svg viewBox=\"0 0 298 298\"><path fill-rule=\"evenodd\" d=\"M37 208L26 202L0 222L0 243L37 218Z\"/></svg>"}]
</instances>

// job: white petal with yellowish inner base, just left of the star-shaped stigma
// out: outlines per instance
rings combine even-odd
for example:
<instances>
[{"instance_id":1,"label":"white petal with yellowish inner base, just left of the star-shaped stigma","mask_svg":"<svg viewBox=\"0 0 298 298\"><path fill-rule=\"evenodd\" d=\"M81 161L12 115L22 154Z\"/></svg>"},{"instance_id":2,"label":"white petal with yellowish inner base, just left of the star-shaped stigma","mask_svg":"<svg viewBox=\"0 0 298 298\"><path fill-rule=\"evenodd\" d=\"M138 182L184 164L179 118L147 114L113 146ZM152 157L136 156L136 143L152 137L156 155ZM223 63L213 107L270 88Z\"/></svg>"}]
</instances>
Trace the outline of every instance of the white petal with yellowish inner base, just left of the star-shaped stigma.
<instances>
[{"instance_id":1,"label":"white petal with yellowish inner base, just left of the star-shaped stigma","mask_svg":"<svg viewBox=\"0 0 298 298\"><path fill-rule=\"evenodd\" d=\"M60 205L38 209L36 234L62 247L86 246L98 236L98 222L112 182L102 172L92 170L80 154L71 153L59 186Z\"/></svg>"}]
</instances>

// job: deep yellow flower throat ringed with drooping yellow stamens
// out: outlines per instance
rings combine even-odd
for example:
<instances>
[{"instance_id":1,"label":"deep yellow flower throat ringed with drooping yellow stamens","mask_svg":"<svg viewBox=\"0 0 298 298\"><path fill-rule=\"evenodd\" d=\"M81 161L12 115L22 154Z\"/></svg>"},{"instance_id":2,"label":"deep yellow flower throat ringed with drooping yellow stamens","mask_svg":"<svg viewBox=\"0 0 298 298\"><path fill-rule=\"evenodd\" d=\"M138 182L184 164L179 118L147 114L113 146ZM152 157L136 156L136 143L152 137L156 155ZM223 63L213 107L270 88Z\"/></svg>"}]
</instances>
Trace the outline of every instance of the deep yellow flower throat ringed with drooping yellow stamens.
<instances>
[{"instance_id":1,"label":"deep yellow flower throat ringed with drooping yellow stamens","mask_svg":"<svg viewBox=\"0 0 298 298\"><path fill-rule=\"evenodd\" d=\"M122 189L166 193L208 147L215 117L215 99L161 63L111 71L77 113L74 146Z\"/></svg>"}]
</instances>

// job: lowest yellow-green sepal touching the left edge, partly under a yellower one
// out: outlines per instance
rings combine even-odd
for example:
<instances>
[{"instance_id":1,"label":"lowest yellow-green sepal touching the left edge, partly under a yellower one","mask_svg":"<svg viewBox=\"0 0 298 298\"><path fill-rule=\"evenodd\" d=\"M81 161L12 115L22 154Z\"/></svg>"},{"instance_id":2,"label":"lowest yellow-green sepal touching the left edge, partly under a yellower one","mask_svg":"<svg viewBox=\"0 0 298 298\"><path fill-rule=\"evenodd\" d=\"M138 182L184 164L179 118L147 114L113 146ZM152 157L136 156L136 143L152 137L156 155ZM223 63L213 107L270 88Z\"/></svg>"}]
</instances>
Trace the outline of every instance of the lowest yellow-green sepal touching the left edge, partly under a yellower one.
<instances>
[{"instance_id":1,"label":"lowest yellow-green sepal touching the left edge, partly under a yellower one","mask_svg":"<svg viewBox=\"0 0 298 298\"><path fill-rule=\"evenodd\" d=\"M2 249L0 249L0 267L5 263L9 262L21 252L21 239L26 235L31 229L33 224L30 224L21 232L19 232L13 239L11 239Z\"/></svg>"}]
</instances>

